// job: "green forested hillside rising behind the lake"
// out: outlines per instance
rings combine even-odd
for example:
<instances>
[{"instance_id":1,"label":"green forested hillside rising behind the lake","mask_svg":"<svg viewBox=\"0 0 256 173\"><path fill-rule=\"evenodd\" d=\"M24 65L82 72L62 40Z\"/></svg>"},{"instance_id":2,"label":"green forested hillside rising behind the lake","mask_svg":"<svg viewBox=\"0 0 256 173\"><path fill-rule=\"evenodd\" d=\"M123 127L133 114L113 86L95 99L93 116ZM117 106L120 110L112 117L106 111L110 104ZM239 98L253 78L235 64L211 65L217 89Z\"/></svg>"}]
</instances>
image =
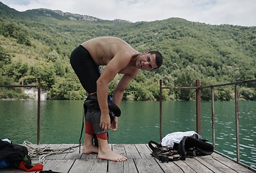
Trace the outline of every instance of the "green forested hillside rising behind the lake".
<instances>
[{"instance_id":1,"label":"green forested hillside rising behind the lake","mask_svg":"<svg viewBox=\"0 0 256 173\"><path fill-rule=\"evenodd\" d=\"M17 12L0 2L0 84L36 84L40 77L48 99L85 99L69 65L69 55L93 37L121 37L140 52L159 50L163 66L141 71L127 87L124 99L158 99L164 86L220 84L256 78L256 27L205 25L170 18L155 22L107 21L48 9ZM119 81L109 85L109 94ZM256 85L240 86L240 99L256 100ZM231 100L233 88L216 90L216 99ZM166 100L192 100L191 90L164 90ZM20 89L0 88L0 98L27 98ZM202 91L210 99L210 90Z\"/></svg>"}]
</instances>

